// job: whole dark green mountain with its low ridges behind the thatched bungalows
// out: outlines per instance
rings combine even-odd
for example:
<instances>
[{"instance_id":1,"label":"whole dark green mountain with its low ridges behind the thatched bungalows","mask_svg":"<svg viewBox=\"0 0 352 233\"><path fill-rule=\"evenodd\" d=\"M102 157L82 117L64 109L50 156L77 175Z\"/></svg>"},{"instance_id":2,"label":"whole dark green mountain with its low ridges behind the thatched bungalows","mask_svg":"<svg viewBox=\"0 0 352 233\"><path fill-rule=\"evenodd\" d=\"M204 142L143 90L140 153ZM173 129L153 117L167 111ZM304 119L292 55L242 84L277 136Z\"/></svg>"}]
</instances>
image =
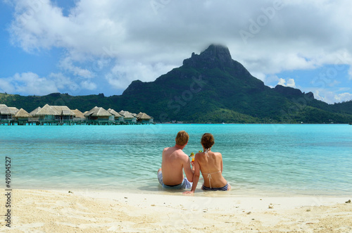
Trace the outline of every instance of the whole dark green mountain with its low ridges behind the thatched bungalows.
<instances>
[{"instance_id":1,"label":"whole dark green mountain with its low ridges behind the thatched bungalows","mask_svg":"<svg viewBox=\"0 0 352 233\"><path fill-rule=\"evenodd\" d=\"M311 92L280 85L267 87L220 45L210 45L199 55L192 53L180 68L153 82L133 81L120 96L0 94L0 103L27 111L45 103L80 111L101 106L115 111L142 111L156 122L352 122L352 101L331 105L314 99Z\"/></svg>"}]
</instances>

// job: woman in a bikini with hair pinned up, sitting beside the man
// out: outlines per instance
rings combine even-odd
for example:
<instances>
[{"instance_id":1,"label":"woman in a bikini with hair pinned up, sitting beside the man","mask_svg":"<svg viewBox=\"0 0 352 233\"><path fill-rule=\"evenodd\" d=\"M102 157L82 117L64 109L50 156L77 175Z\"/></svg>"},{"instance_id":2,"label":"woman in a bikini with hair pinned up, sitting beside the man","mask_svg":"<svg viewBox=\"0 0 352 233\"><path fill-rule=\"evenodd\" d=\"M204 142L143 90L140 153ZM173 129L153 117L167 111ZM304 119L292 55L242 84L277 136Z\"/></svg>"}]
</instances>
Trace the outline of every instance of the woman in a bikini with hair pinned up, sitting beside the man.
<instances>
[{"instance_id":1,"label":"woman in a bikini with hair pinned up, sitting beside the man","mask_svg":"<svg viewBox=\"0 0 352 233\"><path fill-rule=\"evenodd\" d=\"M201 145L203 146L204 152L196 153L194 157L193 185L191 191L185 191L184 194L194 193L199 181L200 172L204 179L201 189L212 191L227 191L231 189L230 184L222 177L221 153L211 151L211 147L214 143L215 141L212 134L203 134Z\"/></svg>"}]
</instances>

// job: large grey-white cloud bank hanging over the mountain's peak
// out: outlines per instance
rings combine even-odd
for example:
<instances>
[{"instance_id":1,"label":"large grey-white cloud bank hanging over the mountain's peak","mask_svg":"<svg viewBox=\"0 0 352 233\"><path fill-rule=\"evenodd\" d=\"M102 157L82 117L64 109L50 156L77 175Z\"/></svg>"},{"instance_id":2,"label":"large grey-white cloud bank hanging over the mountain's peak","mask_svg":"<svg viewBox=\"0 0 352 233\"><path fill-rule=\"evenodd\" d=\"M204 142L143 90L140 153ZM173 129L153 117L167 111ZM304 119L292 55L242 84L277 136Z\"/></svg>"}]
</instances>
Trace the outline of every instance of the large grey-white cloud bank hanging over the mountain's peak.
<instances>
[{"instance_id":1,"label":"large grey-white cloud bank hanging over the mountain's peak","mask_svg":"<svg viewBox=\"0 0 352 233\"><path fill-rule=\"evenodd\" d=\"M62 49L59 66L91 79L77 82L87 89L101 78L115 89L153 81L211 43L227 45L232 58L264 82L284 70L352 65L348 0L80 0L65 15L49 0L14 5L13 44L28 52ZM295 87L294 80L284 84Z\"/></svg>"}]
</instances>

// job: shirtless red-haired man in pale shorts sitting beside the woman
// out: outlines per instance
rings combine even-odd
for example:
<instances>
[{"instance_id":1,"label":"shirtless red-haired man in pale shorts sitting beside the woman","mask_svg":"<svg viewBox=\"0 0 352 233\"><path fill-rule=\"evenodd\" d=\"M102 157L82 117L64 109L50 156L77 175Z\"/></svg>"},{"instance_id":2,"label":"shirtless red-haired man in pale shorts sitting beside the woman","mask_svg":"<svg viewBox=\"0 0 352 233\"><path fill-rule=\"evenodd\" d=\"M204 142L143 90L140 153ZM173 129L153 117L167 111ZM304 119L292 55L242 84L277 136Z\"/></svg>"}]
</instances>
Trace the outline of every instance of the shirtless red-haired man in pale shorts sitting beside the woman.
<instances>
[{"instance_id":1,"label":"shirtless red-haired man in pale shorts sitting beside the woman","mask_svg":"<svg viewBox=\"0 0 352 233\"><path fill-rule=\"evenodd\" d=\"M182 151L184 146L187 145L188 139L189 135L182 130L177 133L175 146L163 150L163 160L161 168L158 170L158 180L165 189L191 188L194 168L191 168L189 157ZM183 176L182 168L187 178Z\"/></svg>"}]
</instances>

